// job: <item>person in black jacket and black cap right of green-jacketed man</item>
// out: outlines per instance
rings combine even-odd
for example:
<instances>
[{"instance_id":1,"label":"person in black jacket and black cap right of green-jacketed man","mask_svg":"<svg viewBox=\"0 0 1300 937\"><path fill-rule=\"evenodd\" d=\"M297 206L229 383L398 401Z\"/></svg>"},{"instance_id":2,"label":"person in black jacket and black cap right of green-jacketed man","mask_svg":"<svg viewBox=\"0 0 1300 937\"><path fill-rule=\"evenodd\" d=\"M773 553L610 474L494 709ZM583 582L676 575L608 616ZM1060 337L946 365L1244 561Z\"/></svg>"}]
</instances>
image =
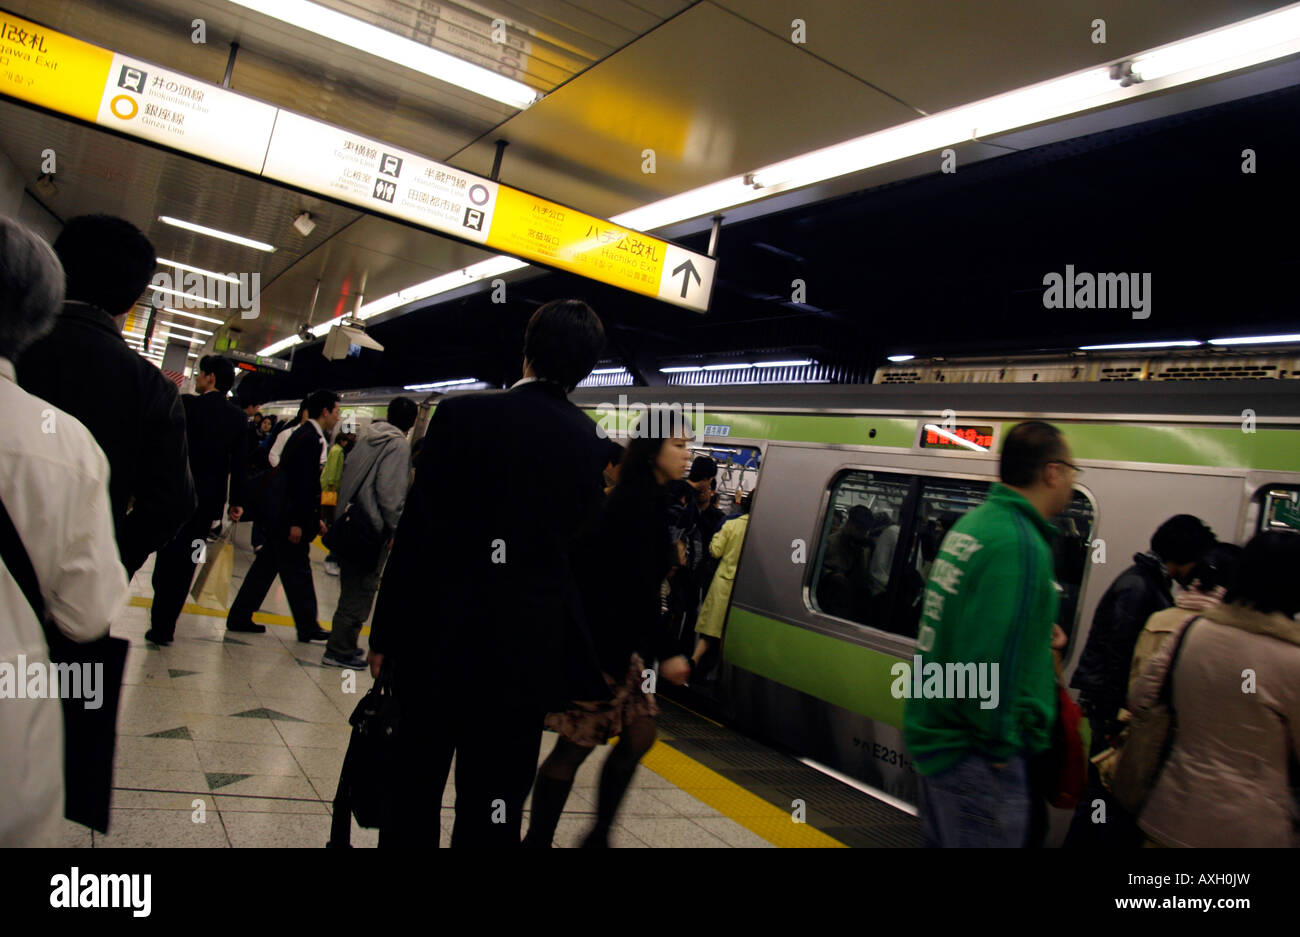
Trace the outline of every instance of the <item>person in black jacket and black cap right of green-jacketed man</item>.
<instances>
[{"instance_id":1,"label":"person in black jacket and black cap right of green-jacketed man","mask_svg":"<svg viewBox=\"0 0 1300 937\"><path fill-rule=\"evenodd\" d=\"M1119 711L1128 691L1128 671L1138 635L1152 615L1174 604L1173 582L1186 582L1197 561L1214 546L1214 532L1192 515L1176 515L1160 525L1150 550L1135 554L1134 564L1106 589L1092 616L1088 643L1070 686L1079 690L1079 704L1092 728L1088 751L1088 784L1075 806L1066 833L1069 847L1132 849L1141 842L1138 819L1110 795L1091 758L1118 739L1124 724ZM1105 803L1105 823L1095 823L1096 801Z\"/></svg>"}]
</instances>

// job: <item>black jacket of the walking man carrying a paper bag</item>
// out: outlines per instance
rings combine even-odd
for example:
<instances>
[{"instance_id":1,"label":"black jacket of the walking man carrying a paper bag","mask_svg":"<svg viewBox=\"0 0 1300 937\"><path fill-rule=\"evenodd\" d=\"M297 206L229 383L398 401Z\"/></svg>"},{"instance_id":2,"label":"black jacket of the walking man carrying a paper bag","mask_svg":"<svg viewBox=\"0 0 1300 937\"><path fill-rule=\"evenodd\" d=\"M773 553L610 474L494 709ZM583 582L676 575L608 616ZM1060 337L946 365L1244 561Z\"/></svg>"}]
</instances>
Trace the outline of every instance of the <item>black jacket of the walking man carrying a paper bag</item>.
<instances>
[{"instance_id":1,"label":"black jacket of the walking man carrying a paper bag","mask_svg":"<svg viewBox=\"0 0 1300 937\"><path fill-rule=\"evenodd\" d=\"M199 508L195 517L213 521L221 517L230 485L231 507L243 506L248 470L248 422L224 394L186 394L185 426L190 447L190 474L194 477Z\"/></svg>"}]
</instances>

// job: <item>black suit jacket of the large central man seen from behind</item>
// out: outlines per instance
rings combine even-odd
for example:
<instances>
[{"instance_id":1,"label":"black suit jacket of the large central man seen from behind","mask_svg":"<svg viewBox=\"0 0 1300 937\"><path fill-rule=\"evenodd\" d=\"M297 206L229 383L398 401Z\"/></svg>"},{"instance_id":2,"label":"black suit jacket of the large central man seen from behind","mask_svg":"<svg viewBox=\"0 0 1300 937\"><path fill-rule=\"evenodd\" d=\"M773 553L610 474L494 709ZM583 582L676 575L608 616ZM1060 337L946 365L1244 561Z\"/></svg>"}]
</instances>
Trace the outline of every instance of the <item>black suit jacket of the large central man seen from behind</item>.
<instances>
[{"instance_id":1,"label":"black suit jacket of the large central man seen from behind","mask_svg":"<svg viewBox=\"0 0 1300 937\"><path fill-rule=\"evenodd\" d=\"M416 706L607 698L571 555L602 499L595 424L537 381L443 400L424 439L370 625L399 693L413 687Z\"/></svg>"}]
</instances>

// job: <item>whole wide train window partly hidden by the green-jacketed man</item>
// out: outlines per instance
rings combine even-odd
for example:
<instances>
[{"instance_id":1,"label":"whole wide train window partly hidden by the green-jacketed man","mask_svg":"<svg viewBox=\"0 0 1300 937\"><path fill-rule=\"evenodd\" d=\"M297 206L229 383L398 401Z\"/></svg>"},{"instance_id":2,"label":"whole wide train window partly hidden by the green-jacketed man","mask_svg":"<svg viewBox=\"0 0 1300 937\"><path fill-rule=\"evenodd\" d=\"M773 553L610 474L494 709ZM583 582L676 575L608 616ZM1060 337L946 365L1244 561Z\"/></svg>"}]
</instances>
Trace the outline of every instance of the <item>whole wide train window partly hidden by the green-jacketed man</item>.
<instances>
[{"instance_id":1,"label":"whole wide train window partly hidden by the green-jacketed man","mask_svg":"<svg viewBox=\"0 0 1300 937\"><path fill-rule=\"evenodd\" d=\"M916 637L926 577L939 545L957 520L988 496L991 482L967 478L848 472L831 490L814 608L870 628ZM1096 517L1092 502L1075 491L1052 520L1057 621L1074 629L1088 545Z\"/></svg>"}]
</instances>

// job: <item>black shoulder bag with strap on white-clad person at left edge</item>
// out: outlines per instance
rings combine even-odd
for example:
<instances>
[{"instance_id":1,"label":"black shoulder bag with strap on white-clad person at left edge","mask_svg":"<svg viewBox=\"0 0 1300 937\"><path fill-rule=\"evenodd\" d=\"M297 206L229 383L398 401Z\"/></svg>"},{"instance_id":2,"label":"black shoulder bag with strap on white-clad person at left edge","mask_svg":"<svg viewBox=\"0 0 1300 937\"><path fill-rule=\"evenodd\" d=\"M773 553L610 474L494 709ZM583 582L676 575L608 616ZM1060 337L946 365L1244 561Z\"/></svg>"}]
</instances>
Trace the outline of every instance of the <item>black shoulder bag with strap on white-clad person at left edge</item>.
<instances>
[{"instance_id":1,"label":"black shoulder bag with strap on white-clad person at left edge","mask_svg":"<svg viewBox=\"0 0 1300 937\"><path fill-rule=\"evenodd\" d=\"M0 558L9 574L27 597L31 611L46 632L49 660L84 672L84 665L101 668L104 694L98 710L87 710L82 699L62 698L64 704L64 816L100 833L108 832L108 808L113 797L113 750L117 747L117 704L122 697L129 641L104 635L77 643L46 617L40 582L27 548L13 526L9 511L0 502ZM109 561L116 563L117 558Z\"/></svg>"}]
</instances>

